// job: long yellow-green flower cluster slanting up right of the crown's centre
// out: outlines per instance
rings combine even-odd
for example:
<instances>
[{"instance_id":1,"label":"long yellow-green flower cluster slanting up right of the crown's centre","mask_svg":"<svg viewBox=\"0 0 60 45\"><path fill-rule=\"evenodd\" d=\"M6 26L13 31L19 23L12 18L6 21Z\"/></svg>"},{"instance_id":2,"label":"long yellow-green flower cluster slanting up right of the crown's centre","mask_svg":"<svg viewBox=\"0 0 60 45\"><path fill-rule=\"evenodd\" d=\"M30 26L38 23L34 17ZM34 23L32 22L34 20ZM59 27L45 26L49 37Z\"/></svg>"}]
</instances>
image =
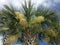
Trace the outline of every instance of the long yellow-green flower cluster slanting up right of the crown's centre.
<instances>
[{"instance_id":1,"label":"long yellow-green flower cluster slanting up right of the crown's centre","mask_svg":"<svg viewBox=\"0 0 60 45\"><path fill-rule=\"evenodd\" d=\"M34 27L36 27L37 26L37 23L41 23L41 22L43 22L44 21L44 16L35 16L32 20L31 20L31 22L29 23L29 27L32 27L32 28L34 28Z\"/></svg>"}]
</instances>

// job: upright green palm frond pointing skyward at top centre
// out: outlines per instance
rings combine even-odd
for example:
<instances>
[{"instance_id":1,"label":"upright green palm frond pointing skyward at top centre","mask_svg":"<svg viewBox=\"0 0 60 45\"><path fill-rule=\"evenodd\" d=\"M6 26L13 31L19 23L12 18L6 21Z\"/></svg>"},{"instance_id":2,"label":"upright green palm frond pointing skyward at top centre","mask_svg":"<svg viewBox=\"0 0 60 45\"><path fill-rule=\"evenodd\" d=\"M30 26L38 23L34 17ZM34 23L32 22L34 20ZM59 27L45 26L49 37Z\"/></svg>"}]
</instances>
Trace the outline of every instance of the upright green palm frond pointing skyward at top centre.
<instances>
[{"instance_id":1,"label":"upright green palm frond pointing skyward at top centre","mask_svg":"<svg viewBox=\"0 0 60 45\"><path fill-rule=\"evenodd\" d=\"M31 4L31 0L29 0L28 4L25 1L24 4L22 4L22 8L24 10L24 15L27 17L27 20L29 21L29 19L31 18L32 14L33 14L33 4Z\"/></svg>"}]
</instances>

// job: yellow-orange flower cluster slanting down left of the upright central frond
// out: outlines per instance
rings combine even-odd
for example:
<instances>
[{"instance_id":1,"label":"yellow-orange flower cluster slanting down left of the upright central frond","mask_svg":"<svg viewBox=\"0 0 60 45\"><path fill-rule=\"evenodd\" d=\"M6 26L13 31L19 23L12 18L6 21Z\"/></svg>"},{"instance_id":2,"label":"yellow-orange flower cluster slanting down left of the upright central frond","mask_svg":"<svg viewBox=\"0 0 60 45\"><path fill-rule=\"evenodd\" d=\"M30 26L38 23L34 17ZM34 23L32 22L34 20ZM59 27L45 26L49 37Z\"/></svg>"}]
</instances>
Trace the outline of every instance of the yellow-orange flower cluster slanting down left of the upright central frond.
<instances>
[{"instance_id":1,"label":"yellow-orange flower cluster slanting down left of the upright central frond","mask_svg":"<svg viewBox=\"0 0 60 45\"><path fill-rule=\"evenodd\" d=\"M15 12L15 14L16 14L16 18L19 19L20 24L23 27L26 27L27 26L27 20L26 20L25 16L20 12Z\"/></svg>"}]
</instances>

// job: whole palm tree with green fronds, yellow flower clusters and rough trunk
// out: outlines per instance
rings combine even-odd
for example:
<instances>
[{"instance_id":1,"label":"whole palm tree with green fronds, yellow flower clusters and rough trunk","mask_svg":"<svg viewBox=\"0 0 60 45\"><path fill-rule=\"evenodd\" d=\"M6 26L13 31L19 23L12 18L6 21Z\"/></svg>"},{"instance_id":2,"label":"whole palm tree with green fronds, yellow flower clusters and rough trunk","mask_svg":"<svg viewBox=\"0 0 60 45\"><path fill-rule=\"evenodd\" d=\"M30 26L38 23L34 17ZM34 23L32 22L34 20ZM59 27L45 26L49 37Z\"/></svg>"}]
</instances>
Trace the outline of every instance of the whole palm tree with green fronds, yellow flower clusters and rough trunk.
<instances>
[{"instance_id":1,"label":"whole palm tree with green fronds, yellow flower clusters and rough trunk","mask_svg":"<svg viewBox=\"0 0 60 45\"><path fill-rule=\"evenodd\" d=\"M20 11L14 9L12 5L4 5L4 7L1 15L6 18L4 24L9 28L6 30L8 38L5 45L11 45L17 40L20 40L22 45L38 45L37 34L44 38L55 36L55 33L52 33L53 35L46 33L50 32L49 29L56 28L58 19L54 11L38 7L35 9L31 0L28 3L25 1Z\"/></svg>"}]
</instances>

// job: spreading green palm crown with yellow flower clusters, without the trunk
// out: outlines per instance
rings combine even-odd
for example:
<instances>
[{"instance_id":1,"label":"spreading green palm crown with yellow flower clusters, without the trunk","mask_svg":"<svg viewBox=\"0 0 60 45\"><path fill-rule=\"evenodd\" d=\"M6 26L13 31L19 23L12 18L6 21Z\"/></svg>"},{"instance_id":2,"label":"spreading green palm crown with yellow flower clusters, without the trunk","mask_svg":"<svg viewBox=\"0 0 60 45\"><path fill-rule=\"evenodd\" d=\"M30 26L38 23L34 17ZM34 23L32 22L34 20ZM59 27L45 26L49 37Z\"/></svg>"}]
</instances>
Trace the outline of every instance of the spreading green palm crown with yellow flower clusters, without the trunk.
<instances>
[{"instance_id":1,"label":"spreading green palm crown with yellow flower clusters, without the trunk","mask_svg":"<svg viewBox=\"0 0 60 45\"><path fill-rule=\"evenodd\" d=\"M4 24L9 28L7 30L9 34L18 34L19 37L23 32L31 31L33 34L42 32L47 36L56 36L58 18L55 11L38 7L35 10L30 0L28 4L26 1L25 4L22 4L22 13L20 12L21 10L14 9L12 5L4 5L4 7L5 9L2 10L1 14L6 18Z\"/></svg>"}]
</instances>

